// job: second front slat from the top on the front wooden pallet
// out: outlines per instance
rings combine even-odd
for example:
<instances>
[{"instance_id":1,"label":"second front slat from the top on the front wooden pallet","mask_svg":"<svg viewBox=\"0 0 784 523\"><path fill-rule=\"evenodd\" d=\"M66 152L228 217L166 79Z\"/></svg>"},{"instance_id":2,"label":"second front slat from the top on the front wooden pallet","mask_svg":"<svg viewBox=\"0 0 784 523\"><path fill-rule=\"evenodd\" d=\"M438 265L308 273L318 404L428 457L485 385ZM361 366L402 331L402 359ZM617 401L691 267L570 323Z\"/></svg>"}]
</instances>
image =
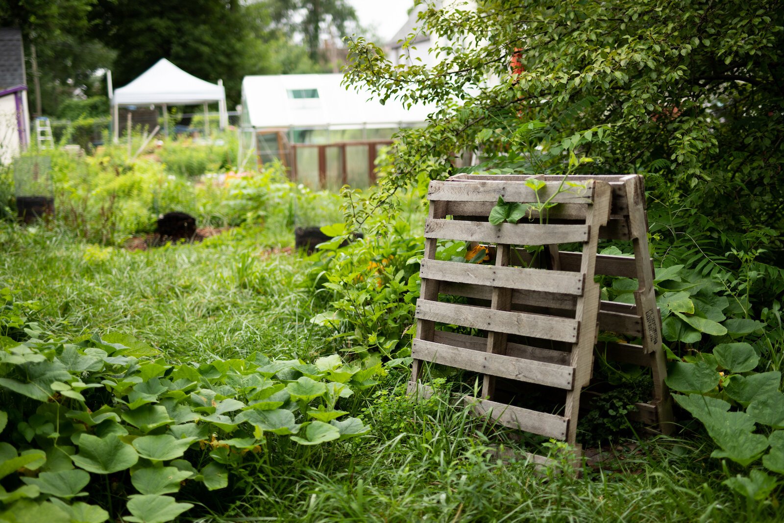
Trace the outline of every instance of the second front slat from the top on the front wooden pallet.
<instances>
[{"instance_id":1,"label":"second front slat from the top on the front wooden pallet","mask_svg":"<svg viewBox=\"0 0 784 523\"><path fill-rule=\"evenodd\" d=\"M587 225L540 225L539 223L501 223L430 219L425 221L425 238L465 240L467 242L549 245L586 242Z\"/></svg>"}]
</instances>

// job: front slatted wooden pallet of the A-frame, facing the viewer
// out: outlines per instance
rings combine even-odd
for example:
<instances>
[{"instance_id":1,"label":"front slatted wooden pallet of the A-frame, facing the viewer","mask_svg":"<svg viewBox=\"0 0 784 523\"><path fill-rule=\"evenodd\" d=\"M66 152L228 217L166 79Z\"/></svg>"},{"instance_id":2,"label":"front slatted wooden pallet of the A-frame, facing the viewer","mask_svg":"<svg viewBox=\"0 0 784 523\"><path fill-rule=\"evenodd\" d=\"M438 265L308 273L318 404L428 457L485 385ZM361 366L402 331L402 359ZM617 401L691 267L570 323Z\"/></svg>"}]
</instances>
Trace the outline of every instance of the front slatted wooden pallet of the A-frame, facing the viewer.
<instances>
[{"instance_id":1,"label":"front slatted wooden pallet of the A-frame, facing the viewer","mask_svg":"<svg viewBox=\"0 0 784 523\"><path fill-rule=\"evenodd\" d=\"M583 187L566 187L561 181L544 180L538 192L524 182L528 176L477 180L455 177L430 183L430 216L425 223L422 289L416 305L417 333L412 343L412 390L418 387L423 361L432 361L483 375L481 398L474 411L488 414L507 427L557 438L576 445L577 418L582 387L590 380L593 345L597 337L600 289L593 281L599 229L609 219L611 187L595 180ZM550 216L569 216L570 223L534 221L502 223L447 220L447 216L484 217L498 201L535 203L553 196L557 206ZM490 264L456 263L436 259L439 239L477 242L492 250ZM545 249L541 258L555 260L548 269L525 267L523 245L580 243L577 271L560 269L557 249ZM491 249L492 247L492 249ZM553 265L553 263L550 263ZM439 294L489 300L487 305L440 301ZM550 307L553 300L573 304L571 314L528 311L530 300ZM436 324L460 325L486 332L487 337L437 330ZM517 337L515 337L517 336ZM519 343L521 338L525 343ZM510 340L510 338L514 339ZM528 343L531 341L532 343ZM559 414L506 405L495 399L499 378L565 393Z\"/></svg>"}]
</instances>

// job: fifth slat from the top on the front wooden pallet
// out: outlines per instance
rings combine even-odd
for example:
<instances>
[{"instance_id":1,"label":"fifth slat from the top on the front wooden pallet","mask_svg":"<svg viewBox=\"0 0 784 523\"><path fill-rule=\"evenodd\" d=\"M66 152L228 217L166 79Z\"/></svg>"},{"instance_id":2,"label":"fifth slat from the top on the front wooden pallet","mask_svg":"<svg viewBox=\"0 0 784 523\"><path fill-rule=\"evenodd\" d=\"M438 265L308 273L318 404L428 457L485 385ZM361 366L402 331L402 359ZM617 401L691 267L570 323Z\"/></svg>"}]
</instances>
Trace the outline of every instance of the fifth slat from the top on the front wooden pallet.
<instances>
[{"instance_id":1,"label":"fifth slat from the top on the front wooden pallet","mask_svg":"<svg viewBox=\"0 0 784 523\"><path fill-rule=\"evenodd\" d=\"M572 390L574 385L575 369L567 365L514 358L433 341L413 340L412 356L456 369L559 389Z\"/></svg>"}]
</instances>

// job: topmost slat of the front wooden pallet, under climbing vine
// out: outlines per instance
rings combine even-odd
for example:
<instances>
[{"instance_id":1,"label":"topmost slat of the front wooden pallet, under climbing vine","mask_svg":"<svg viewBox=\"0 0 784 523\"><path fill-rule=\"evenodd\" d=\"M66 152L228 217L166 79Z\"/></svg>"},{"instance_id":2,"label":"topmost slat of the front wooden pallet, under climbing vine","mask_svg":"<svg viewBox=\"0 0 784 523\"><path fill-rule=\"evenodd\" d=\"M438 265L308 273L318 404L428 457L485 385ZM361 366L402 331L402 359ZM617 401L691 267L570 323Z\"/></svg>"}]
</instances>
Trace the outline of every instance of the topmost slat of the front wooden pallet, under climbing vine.
<instances>
[{"instance_id":1,"label":"topmost slat of the front wooden pallet, under climbing vine","mask_svg":"<svg viewBox=\"0 0 784 523\"><path fill-rule=\"evenodd\" d=\"M547 183L538 193L525 183L509 183L508 180L466 180L459 183L433 180L427 190L430 201L458 202L504 202L536 203L553 197L555 203L590 203L593 198L593 183L587 187L569 187L558 192L559 183ZM537 194L539 198L537 198Z\"/></svg>"}]
</instances>

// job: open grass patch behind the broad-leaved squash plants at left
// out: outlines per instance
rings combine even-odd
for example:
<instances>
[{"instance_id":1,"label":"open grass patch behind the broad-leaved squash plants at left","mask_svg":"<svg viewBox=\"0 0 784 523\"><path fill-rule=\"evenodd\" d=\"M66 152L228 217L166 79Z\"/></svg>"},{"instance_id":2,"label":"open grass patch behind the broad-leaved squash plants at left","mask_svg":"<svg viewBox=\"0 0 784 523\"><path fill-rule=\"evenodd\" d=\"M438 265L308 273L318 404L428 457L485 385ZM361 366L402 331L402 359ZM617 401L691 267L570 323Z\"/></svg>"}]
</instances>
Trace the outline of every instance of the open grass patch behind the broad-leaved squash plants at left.
<instances>
[{"instance_id":1,"label":"open grass patch behind the broad-leaved squash plants at left","mask_svg":"<svg viewBox=\"0 0 784 523\"><path fill-rule=\"evenodd\" d=\"M0 286L41 300L38 321L52 332L130 332L176 360L253 350L310 358L329 347L308 321L296 256L263 259L250 242L217 238L129 252L45 226L0 225L0 245Z\"/></svg>"}]
</instances>

